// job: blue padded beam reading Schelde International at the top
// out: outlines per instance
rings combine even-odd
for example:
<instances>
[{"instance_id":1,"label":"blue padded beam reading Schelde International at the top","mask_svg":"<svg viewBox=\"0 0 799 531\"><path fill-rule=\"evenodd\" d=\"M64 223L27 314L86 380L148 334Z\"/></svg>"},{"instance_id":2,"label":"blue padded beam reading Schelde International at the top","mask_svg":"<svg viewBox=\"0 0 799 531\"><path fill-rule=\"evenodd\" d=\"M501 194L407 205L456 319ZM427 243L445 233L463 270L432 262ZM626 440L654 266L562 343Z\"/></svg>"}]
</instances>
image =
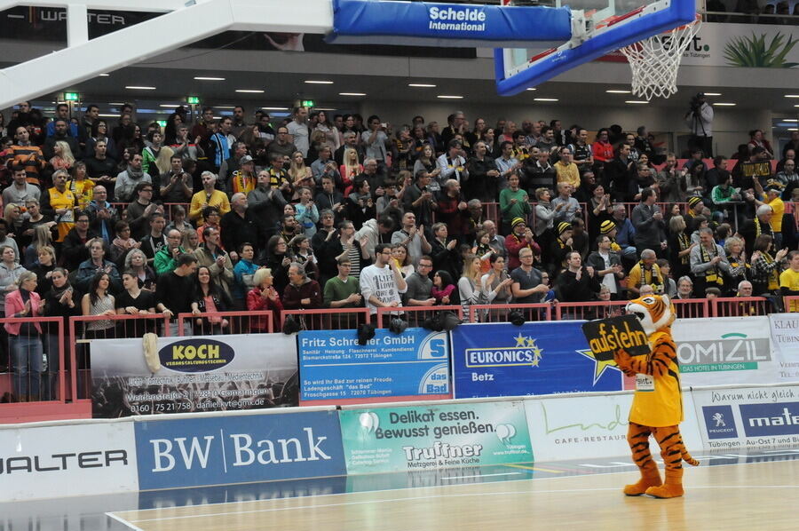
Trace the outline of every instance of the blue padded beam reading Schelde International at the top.
<instances>
[{"instance_id":1,"label":"blue padded beam reading Schelde International at the top","mask_svg":"<svg viewBox=\"0 0 799 531\"><path fill-rule=\"evenodd\" d=\"M369 39L375 36L394 37L388 44L427 40L442 46L565 42L572 36L571 12L566 7L333 0L333 31L328 42L387 43L384 38Z\"/></svg>"}]
</instances>

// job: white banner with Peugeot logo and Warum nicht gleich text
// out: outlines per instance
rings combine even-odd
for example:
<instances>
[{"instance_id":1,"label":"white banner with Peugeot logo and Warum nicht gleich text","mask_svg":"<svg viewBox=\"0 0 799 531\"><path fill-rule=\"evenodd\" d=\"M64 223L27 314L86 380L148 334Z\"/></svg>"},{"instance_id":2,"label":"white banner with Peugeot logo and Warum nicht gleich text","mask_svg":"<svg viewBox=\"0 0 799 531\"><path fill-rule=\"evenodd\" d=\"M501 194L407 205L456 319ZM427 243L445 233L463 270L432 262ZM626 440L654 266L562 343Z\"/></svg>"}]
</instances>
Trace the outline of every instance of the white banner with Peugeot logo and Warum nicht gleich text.
<instances>
[{"instance_id":1,"label":"white banner with Peugeot logo and Warum nicht gleich text","mask_svg":"<svg viewBox=\"0 0 799 531\"><path fill-rule=\"evenodd\" d=\"M693 391L706 448L795 448L799 387Z\"/></svg>"}]
</instances>

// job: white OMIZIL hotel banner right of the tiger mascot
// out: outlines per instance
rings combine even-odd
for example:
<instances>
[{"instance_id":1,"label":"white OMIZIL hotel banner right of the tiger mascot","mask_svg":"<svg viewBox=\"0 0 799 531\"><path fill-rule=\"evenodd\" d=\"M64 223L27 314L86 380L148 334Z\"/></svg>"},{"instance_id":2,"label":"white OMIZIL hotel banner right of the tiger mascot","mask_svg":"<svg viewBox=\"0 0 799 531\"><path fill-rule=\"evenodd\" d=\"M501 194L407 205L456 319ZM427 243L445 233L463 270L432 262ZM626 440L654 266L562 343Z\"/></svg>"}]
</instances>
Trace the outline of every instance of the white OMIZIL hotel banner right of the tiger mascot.
<instances>
[{"instance_id":1,"label":"white OMIZIL hotel banner right of the tiger mascot","mask_svg":"<svg viewBox=\"0 0 799 531\"><path fill-rule=\"evenodd\" d=\"M671 330L683 385L779 381L768 317L678 319Z\"/></svg>"}]
</instances>

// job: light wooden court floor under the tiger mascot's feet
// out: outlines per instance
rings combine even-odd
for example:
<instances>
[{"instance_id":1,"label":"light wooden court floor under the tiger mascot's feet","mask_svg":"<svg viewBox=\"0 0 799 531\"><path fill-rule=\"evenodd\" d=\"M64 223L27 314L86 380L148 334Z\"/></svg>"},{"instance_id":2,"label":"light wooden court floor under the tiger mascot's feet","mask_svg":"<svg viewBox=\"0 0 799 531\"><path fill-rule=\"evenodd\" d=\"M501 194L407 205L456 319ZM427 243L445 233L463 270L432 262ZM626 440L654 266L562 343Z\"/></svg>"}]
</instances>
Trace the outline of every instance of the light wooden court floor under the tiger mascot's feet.
<instances>
[{"instance_id":1,"label":"light wooden court floor under the tiger mascot's feet","mask_svg":"<svg viewBox=\"0 0 799 531\"><path fill-rule=\"evenodd\" d=\"M123 511L141 531L799 529L799 460L687 467L684 497L627 497L636 472Z\"/></svg>"}]
</instances>

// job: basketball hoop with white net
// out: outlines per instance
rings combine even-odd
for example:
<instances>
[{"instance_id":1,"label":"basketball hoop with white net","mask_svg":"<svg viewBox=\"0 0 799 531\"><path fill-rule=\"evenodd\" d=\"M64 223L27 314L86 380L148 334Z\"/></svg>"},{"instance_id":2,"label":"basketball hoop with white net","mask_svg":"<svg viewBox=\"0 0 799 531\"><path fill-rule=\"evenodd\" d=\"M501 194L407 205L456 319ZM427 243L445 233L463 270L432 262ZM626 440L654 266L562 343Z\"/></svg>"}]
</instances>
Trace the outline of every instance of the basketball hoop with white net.
<instances>
[{"instance_id":1,"label":"basketball hoop with white net","mask_svg":"<svg viewBox=\"0 0 799 531\"><path fill-rule=\"evenodd\" d=\"M632 91L639 98L668 98L677 91L676 75L683 52L699 31L701 15L689 24L651 36L619 51L632 70Z\"/></svg>"}]
</instances>

